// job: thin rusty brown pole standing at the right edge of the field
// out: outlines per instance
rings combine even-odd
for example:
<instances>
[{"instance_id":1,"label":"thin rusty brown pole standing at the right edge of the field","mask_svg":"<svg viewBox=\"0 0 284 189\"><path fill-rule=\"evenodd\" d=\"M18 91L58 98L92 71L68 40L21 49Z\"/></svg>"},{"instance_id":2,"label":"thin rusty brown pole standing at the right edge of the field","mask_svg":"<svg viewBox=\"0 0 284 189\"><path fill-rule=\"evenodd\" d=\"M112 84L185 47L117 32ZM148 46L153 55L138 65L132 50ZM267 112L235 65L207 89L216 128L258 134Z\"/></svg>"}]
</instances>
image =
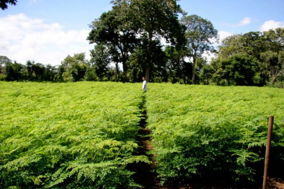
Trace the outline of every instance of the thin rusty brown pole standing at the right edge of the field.
<instances>
[{"instance_id":1,"label":"thin rusty brown pole standing at the right edge of the field","mask_svg":"<svg viewBox=\"0 0 284 189\"><path fill-rule=\"evenodd\" d=\"M263 175L262 189L266 189L268 160L269 160L269 152L270 152L270 144L271 144L272 127L273 127L273 118L274 118L273 116L269 116L269 125L268 125L268 133L267 133L267 143L266 143L266 152L265 152L265 161L264 161L264 175Z\"/></svg>"}]
</instances>

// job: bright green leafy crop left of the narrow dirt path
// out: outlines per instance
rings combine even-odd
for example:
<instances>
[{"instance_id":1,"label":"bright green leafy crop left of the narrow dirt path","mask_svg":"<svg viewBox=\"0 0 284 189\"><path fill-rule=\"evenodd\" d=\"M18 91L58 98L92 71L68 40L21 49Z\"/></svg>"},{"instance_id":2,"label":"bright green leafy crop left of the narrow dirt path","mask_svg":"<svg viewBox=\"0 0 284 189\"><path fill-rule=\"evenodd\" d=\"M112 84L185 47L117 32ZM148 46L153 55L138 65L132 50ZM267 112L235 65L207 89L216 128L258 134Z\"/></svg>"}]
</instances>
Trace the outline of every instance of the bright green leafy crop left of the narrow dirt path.
<instances>
[{"instance_id":1,"label":"bright green leafy crop left of the narrow dirt path","mask_svg":"<svg viewBox=\"0 0 284 189\"><path fill-rule=\"evenodd\" d=\"M141 90L0 82L0 188L136 188ZM137 154L137 153L136 153Z\"/></svg>"}]
</instances>

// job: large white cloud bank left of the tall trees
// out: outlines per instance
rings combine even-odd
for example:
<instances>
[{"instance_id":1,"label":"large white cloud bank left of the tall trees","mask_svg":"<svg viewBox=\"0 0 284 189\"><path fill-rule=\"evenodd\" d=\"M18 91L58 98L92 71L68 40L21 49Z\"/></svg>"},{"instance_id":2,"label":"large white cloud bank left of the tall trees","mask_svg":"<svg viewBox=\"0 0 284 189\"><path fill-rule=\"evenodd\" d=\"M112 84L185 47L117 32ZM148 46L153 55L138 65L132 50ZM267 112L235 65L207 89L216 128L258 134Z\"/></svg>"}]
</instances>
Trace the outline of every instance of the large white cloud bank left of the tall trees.
<instances>
[{"instance_id":1,"label":"large white cloud bank left of the tall trees","mask_svg":"<svg viewBox=\"0 0 284 189\"><path fill-rule=\"evenodd\" d=\"M34 60L43 64L59 65L68 54L93 48L86 40L89 30L64 31L58 23L47 24L42 19L25 14L0 18L0 55L25 64Z\"/></svg>"}]
</instances>

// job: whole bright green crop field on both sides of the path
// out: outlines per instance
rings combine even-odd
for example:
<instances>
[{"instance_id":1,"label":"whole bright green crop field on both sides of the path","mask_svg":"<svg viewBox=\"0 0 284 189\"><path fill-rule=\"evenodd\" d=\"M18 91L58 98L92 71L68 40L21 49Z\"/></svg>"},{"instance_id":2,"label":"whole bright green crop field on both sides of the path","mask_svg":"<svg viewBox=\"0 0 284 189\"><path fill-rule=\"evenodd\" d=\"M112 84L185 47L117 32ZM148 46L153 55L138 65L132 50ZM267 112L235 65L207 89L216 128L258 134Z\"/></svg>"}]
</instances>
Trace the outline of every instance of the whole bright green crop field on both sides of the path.
<instances>
[{"instance_id":1,"label":"whole bright green crop field on both sides of the path","mask_svg":"<svg viewBox=\"0 0 284 189\"><path fill-rule=\"evenodd\" d=\"M0 188L137 188L129 165L145 97L161 184L214 173L255 179L269 115L284 162L284 91L114 82L0 82ZM263 167L261 167L263 171ZM262 174L262 173L261 173Z\"/></svg>"}]
</instances>

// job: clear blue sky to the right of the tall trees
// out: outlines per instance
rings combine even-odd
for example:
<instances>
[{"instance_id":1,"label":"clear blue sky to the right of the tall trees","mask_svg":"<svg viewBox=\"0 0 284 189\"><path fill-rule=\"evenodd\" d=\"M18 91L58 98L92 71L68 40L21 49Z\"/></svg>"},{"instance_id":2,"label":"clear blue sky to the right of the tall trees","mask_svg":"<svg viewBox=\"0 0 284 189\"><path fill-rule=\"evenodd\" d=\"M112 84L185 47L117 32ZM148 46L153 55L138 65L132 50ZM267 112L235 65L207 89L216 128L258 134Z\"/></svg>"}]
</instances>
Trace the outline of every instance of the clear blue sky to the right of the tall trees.
<instances>
[{"instance_id":1,"label":"clear blue sky to the right of the tall trees","mask_svg":"<svg viewBox=\"0 0 284 189\"><path fill-rule=\"evenodd\" d=\"M283 0L181 0L178 2L189 15L197 14L210 20L218 31L247 33L260 31L260 27L268 20L284 21ZM249 24L236 26L246 17L251 19Z\"/></svg>"}]
</instances>

